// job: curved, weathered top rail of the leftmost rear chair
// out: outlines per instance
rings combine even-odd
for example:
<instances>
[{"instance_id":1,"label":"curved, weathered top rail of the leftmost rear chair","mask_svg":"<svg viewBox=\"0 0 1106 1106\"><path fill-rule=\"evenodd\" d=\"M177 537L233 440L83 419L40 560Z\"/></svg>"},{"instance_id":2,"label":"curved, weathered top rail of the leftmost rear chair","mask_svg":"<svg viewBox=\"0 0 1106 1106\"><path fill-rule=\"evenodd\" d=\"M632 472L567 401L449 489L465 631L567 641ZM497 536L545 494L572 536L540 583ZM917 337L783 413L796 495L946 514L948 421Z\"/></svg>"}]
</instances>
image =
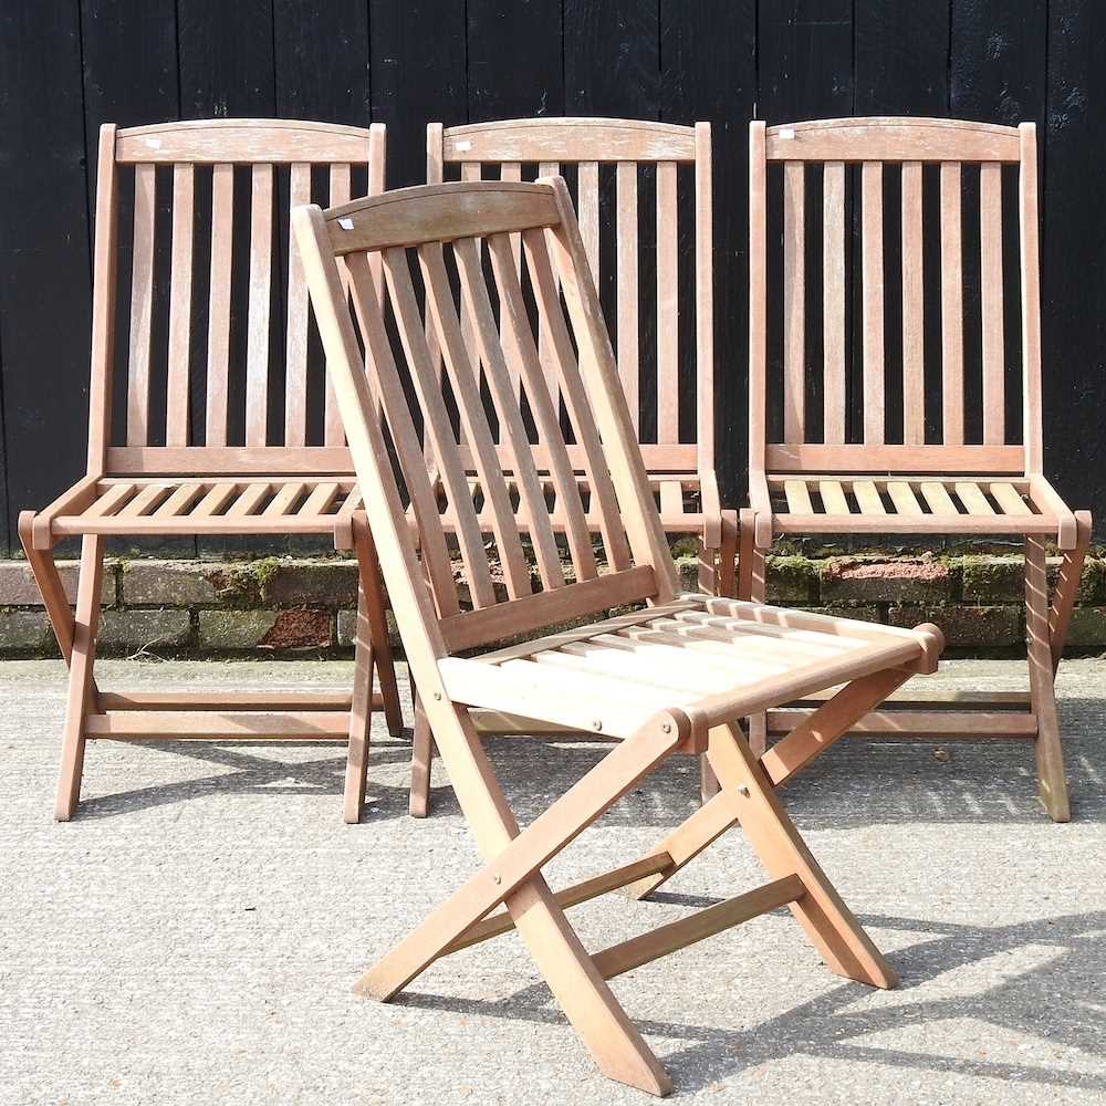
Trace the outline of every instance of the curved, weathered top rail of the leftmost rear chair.
<instances>
[{"instance_id":1,"label":"curved, weathered top rail of the leftmost rear chair","mask_svg":"<svg viewBox=\"0 0 1106 1106\"><path fill-rule=\"evenodd\" d=\"M119 163L365 161L371 138L383 140L384 124L351 127L300 119L186 119L119 131Z\"/></svg>"}]
</instances>

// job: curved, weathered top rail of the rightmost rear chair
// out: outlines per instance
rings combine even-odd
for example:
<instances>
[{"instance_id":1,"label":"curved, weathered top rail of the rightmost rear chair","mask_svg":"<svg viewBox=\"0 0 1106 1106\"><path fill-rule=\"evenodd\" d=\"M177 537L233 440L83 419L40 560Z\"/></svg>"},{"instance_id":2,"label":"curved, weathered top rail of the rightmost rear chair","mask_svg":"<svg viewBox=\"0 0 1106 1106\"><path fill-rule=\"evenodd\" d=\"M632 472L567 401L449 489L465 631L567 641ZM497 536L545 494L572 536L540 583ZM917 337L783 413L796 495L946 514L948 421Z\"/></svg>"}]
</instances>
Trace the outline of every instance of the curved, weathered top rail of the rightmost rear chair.
<instances>
[{"instance_id":1,"label":"curved, weathered top rail of the rightmost rear chair","mask_svg":"<svg viewBox=\"0 0 1106 1106\"><path fill-rule=\"evenodd\" d=\"M870 116L766 127L770 161L1016 161L1033 127L960 119Z\"/></svg>"}]
</instances>

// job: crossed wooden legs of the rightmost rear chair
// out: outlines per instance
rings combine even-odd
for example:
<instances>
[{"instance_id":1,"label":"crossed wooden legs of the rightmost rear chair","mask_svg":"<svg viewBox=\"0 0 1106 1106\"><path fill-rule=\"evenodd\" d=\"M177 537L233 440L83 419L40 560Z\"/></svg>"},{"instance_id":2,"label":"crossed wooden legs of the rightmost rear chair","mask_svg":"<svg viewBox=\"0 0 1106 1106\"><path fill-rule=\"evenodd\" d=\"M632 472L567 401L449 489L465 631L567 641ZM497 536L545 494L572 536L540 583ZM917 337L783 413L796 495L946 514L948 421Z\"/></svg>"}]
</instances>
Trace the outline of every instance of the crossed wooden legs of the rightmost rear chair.
<instances>
[{"instance_id":1,"label":"crossed wooden legs of the rightmost rear chair","mask_svg":"<svg viewBox=\"0 0 1106 1106\"><path fill-rule=\"evenodd\" d=\"M754 540L755 514L743 510L740 519L740 541L738 559L738 595L763 602L765 586L765 549ZM1011 727L1009 733L1001 731L1002 718L1020 723L1024 711L992 713L992 735L1032 738L1036 752L1037 783L1041 802L1054 822L1068 822L1072 817L1067 794L1067 776L1064 771L1064 755L1056 714L1055 677L1064 654L1064 644L1072 624L1072 612L1079 589L1083 565L1091 546L1091 513L1076 511L1076 541L1070 550L1064 550L1055 589L1050 598L1048 574L1045 561L1045 542L1041 538L1025 538L1025 639L1029 662L1027 713L1032 719L1031 729L1022 724ZM980 697L975 697L978 703ZM948 706L956 708L956 700ZM988 710L984 703L982 710ZM971 733L972 711L961 709L964 732ZM975 713L979 713L977 709ZM905 716L906 717L906 716ZM952 720L949 712L949 721ZM863 722L863 719L858 721ZM768 747L768 714L755 714L749 719L749 739L754 753L762 754ZM870 731L869 731L870 732ZM877 731L878 732L878 731ZM898 729L897 733L909 733L909 729ZM919 732L918 737L931 734Z\"/></svg>"}]
</instances>

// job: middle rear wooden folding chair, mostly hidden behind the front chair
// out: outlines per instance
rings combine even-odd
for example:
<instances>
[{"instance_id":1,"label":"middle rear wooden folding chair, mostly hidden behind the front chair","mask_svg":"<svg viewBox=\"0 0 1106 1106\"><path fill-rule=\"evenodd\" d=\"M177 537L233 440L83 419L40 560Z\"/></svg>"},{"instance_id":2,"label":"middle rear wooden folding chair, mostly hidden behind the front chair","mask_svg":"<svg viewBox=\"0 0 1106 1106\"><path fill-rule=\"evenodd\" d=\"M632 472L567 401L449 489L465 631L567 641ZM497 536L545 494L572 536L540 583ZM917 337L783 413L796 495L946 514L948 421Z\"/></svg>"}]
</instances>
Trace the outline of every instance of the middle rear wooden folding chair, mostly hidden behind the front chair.
<instances>
[{"instance_id":1,"label":"middle rear wooden folding chair, mostly hidden behind the front chair","mask_svg":"<svg viewBox=\"0 0 1106 1106\"><path fill-rule=\"evenodd\" d=\"M714 470L710 124L689 127L607 118L507 119L457 127L430 123L426 148L429 184L442 181L451 170L462 180L572 174L592 276L611 292L618 376L665 531L698 539L701 591L735 595L737 512L722 510ZM687 264L679 257L681 210L693 222ZM518 241L513 249L518 258ZM640 279L647 254L655 258L651 286ZM607 257L613 264L601 264ZM686 302L679 295L681 283L689 290ZM681 333L680 315L689 309L695 325L685 325ZM643 356L643 336L650 334L655 351L651 357ZM472 349L467 327L466 342ZM547 336L540 335L539 355L553 403L560 407L547 345ZM645 379L644 366L651 369L653 380ZM682 411L682 418L681 393L685 408L695 405L693 411ZM549 484L541 438L534 437L539 474ZM576 468L575 476L582 480L583 470ZM596 512L586 521L596 532ZM564 520L555 514L554 528L563 526ZM410 808L422 816L429 806L434 745L418 705L415 719ZM705 799L717 791L706 761L702 789Z\"/></svg>"}]
</instances>

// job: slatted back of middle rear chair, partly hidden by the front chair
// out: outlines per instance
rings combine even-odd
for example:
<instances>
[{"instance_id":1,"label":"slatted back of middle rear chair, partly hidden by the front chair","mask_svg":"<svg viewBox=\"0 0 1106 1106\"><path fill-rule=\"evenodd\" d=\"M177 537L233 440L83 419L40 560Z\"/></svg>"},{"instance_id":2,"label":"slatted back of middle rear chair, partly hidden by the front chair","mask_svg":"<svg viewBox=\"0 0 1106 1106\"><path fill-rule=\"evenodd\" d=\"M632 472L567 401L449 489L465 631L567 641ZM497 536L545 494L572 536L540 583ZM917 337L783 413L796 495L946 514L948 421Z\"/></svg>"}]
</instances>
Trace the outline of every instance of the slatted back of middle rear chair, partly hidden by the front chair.
<instances>
[{"instance_id":1,"label":"slatted back of middle rear chair, partly hidden by the front chair","mask_svg":"<svg viewBox=\"0 0 1106 1106\"><path fill-rule=\"evenodd\" d=\"M462 180L557 174L574 180L584 251L596 285L611 293L618 374L646 468L706 472L713 480L710 124L605 118L429 124L427 180L457 171ZM607 204L613 212L603 219ZM684 248L689 239L690 250ZM513 249L518 255L518 241ZM655 254L651 288L641 280L647 252ZM608 270L604 260L612 258ZM693 314L693 326L687 319L681 325L681 313ZM650 333L655 352L641 342ZM650 368L654 382L644 378ZM556 400L555 374L547 379Z\"/></svg>"}]
</instances>

